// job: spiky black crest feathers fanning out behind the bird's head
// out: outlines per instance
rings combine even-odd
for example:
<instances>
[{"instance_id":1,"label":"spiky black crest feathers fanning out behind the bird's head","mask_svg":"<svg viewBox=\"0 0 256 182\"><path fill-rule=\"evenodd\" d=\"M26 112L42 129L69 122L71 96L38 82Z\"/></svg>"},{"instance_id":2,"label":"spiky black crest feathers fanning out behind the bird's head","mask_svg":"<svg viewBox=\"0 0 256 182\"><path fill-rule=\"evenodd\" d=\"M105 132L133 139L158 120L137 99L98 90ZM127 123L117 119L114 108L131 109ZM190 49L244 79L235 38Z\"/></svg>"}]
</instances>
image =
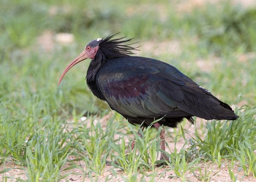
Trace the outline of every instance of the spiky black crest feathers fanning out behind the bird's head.
<instances>
[{"instance_id":1,"label":"spiky black crest feathers fanning out behind the bird's head","mask_svg":"<svg viewBox=\"0 0 256 182\"><path fill-rule=\"evenodd\" d=\"M134 43L131 43L131 39L125 40L124 38L114 38L120 33L114 33L104 37L100 40L99 50L95 56L96 60L101 60L103 63L112 58L125 57L134 54L132 50L138 50L138 47L133 47ZM135 42L137 43L137 42Z\"/></svg>"}]
</instances>

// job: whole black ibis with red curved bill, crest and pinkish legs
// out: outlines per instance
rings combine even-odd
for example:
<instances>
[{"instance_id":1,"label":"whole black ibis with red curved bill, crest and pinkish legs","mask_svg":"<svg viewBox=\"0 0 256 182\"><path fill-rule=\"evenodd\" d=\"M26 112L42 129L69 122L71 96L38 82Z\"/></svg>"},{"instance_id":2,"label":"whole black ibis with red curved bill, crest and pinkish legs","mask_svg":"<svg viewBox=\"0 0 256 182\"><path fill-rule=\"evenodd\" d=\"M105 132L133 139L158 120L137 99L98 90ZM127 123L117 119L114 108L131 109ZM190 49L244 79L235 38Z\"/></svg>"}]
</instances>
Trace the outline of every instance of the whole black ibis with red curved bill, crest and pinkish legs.
<instances>
[{"instance_id":1,"label":"whole black ibis with red curved bill, crest and pinkish legs","mask_svg":"<svg viewBox=\"0 0 256 182\"><path fill-rule=\"evenodd\" d=\"M192 116L206 120L239 117L228 104L174 66L152 58L131 56L132 50L136 50L131 46L132 39L116 38L118 34L91 41L66 67L58 84L72 66L89 58L88 87L131 124L143 123L142 127L148 127L160 119L153 124L158 130L162 125L176 127L183 118L193 124ZM160 139L160 149L165 150L163 127ZM168 157L161 152L160 159L168 160Z\"/></svg>"}]
</instances>

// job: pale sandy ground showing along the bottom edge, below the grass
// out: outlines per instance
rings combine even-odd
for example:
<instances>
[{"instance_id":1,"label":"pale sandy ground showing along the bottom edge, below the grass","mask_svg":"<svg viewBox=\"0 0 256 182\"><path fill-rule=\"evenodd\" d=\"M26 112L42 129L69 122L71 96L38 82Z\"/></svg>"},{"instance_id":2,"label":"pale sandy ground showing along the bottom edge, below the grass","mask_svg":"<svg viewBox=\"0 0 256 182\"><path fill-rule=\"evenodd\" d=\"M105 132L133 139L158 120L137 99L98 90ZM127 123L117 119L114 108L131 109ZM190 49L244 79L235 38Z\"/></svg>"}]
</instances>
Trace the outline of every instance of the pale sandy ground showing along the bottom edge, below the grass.
<instances>
[{"instance_id":1,"label":"pale sandy ground showing along the bottom edge, below the grass","mask_svg":"<svg viewBox=\"0 0 256 182\"><path fill-rule=\"evenodd\" d=\"M170 144L171 145L171 144ZM83 161L79 162L79 165L81 168L85 169L85 165L83 163ZM222 165L221 168L218 168L218 165L216 164L212 164L211 162L208 163L200 163L199 166L201 168L201 173L205 173L205 170L207 172L207 174L209 175L210 173L210 178L209 181L210 182L230 182L230 175L228 172L228 166L230 165L230 161L222 161ZM69 167L69 165L64 166L64 168ZM11 170L9 170L6 173L2 173L0 174L0 180L2 179L2 181L4 181L3 177L9 177L9 179L7 179L7 182L11 182L11 181L16 181L15 179L22 179L22 180L26 180L27 179L27 175L26 175L26 168L15 165L13 163L6 163L5 165L0 166L0 171L3 169L8 169L8 168L12 168ZM113 174L112 171L115 171L116 175ZM65 175L67 173L72 172L72 174L68 175L66 178L62 179L61 182L87 182L90 181L90 178L86 175L83 174L83 171L80 170L79 168L75 168L72 170L66 170L62 172L62 175ZM157 168L156 172L158 173L157 176L154 178L154 181L161 181L161 182L169 182L169 181L173 181L173 182L180 182L181 179L177 178L175 175L175 172L173 170L170 170L168 166L164 166L163 168ZM237 176L237 182L255 182L256 179L253 178L252 173L250 173L249 176L244 176L244 171L241 170L239 172L239 164L235 163L234 168L233 168L233 172L235 174L235 176ZM145 172L147 175L151 174L151 171ZM80 175L78 175L80 174ZM201 181L201 177L200 177L200 172L199 170L195 170L193 172L186 172L185 173L185 178L186 181L190 181L190 182L198 182ZM108 177L108 181L110 182L122 182L124 181L123 178L127 178L128 176L122 172L122 170L118 170L118 169L114 169L112 166L106 166L105 167L105 172L103 173L102 176L93 176L93 180L99 181L99 182L105 182L106 178ZM14 179L12 179L14 178ZM149 181L151 178L150 177L143 177L145 179L145 181ZM137 176L137 180L140 181L142 179L142 174L139 174ZM207 181L208 178L206 178L205 180Z\"/></svg>"}]
</instances>

